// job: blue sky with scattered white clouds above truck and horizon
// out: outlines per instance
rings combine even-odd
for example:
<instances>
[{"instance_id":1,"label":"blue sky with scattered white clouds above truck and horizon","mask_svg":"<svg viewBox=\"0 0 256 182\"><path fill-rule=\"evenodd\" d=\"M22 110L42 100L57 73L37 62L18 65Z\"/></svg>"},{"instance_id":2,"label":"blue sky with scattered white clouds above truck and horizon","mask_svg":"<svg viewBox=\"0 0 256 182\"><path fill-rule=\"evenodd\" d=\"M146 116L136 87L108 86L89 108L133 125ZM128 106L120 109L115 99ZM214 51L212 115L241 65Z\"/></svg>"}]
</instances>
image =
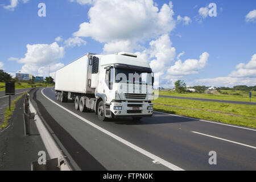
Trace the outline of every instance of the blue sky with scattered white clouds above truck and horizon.
<instances>
[{"instance_id":1,"label":"blue sky with scattered white clouds above truck and horizon","mask_svg":"<svg viewBox=\"0 0 256 182\"><path fill-rule=\"evenodd\" d=\"M38 16L42 2L45 17ZM209 3L216 4L217 16L209 16ZM0 69L10 73L47 76L51 65L54 76L86 52L129 51L147 59L167 88L177 79L189 86L256 85L254 0L2 0L0 5Z\"/></svg>"}]
</instances>

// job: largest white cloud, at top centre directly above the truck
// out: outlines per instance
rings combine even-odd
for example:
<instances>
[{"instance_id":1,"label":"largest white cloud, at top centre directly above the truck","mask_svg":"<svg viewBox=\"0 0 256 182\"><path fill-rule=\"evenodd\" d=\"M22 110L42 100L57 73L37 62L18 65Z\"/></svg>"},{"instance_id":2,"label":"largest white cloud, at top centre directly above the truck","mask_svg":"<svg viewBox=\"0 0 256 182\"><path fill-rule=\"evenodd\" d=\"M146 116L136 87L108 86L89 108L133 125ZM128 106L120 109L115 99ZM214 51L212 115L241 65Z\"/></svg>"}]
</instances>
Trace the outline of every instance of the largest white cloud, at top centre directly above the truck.
<instances>
[{"instance_id":1,"label":"largest white cloud, at top centre directly above the truck","mask_svg":"<svg viewBox=\"0 0 256 182\"><path fill-rule=\"evenodd\" d=\"M172 31L175 28L173 15L171 2L159 10L152 0L98 0L93 1L89 10L89 22L81 23L79 31L73 35L92 37L107 43L104 51L118 52L119 49L113 49L118 48L118 44L131 49Z\"/></svg>"}]
</instances>

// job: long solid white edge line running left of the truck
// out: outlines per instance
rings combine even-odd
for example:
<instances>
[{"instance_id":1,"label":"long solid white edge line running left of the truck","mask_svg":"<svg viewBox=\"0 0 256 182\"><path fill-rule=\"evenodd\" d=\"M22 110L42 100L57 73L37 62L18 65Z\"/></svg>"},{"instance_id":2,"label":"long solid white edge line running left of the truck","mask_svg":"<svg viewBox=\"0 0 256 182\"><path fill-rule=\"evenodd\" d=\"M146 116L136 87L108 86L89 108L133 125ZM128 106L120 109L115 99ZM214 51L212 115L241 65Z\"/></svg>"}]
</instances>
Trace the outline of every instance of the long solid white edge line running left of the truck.
<instances>
[{"instance_id":1,"label":"long solid white edge line running left of the truck","mask_svg":"<svg viewBox=\"0 0 256 182\"><path fill-rule=\"evenodd\" d=\"M46 88L44 88L46 89ZM174 171L184 171L184 169L180 168L180 167L177 167L176 165L170 163L170 162L167 162L166 160L162 159L162 158L159 158L158 156L154 155L154 154L151 154L150 152L142 149L141 147L138 147L136 146L135 144L133 143L130 143L128 142L127 140L121 138L121 137L118 137L117 135L109 132L108 130L105 130L103 129L102 127L98 126L98 125L95 125L94 123L88 121L87 119L81 117L80 115L76 114L76 113L73 113L71 110L57 104L55 101L51 100L51 98L47 97L44 93L43 93L43 90L41 90L41 93L43 94L44 97L46 97L49 101L51 101L53 104L56 104L57 106L61 107L62 109L68 111L69 113L71 113L72 115L74 115L75 117L81 119L82 121L88 123L88 125L90 126L93 126L95 127L96 129L102 131L102 133L105 133L106 135L109 135L110 137L118 140L119 142L125 144L126 146L129 146L130 148L133 148L134 150L138 151L139 153L143 154L143 155L146 155L148 158L151 158L153 159L154 161L158 161L160 164L162 164L163 166L166 166Z\"/></svg>"}]
</instances>

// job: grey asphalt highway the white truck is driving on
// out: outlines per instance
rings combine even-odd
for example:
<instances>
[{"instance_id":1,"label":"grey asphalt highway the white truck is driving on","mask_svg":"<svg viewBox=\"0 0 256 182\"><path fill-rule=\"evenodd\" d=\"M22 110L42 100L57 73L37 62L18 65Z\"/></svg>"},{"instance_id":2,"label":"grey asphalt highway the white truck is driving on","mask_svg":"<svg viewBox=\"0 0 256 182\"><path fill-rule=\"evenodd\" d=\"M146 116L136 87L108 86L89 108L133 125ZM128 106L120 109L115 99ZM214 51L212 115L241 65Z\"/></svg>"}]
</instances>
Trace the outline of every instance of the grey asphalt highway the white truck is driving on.
<instances>
[{"instance_id":1,"label":"grey asphalt highway the white truck is driving on","mask_svg":"<svg viewBox=\"0 0 256 182\"><path fill-rule=\"evenodd\" d=\"M52 133L75 169L171 170L171 164L184 170L256 169L254 129L158 112L139 122L131 118L100 122L94 113L75 110L72 102L57 102L53 88L43 93L51 101L41 89L36 92L41 114L49 120ZM217 164L209 164L210 151L216 152ZM165 162L168 165L163 165Z\"/></svg>"}]
</instances>

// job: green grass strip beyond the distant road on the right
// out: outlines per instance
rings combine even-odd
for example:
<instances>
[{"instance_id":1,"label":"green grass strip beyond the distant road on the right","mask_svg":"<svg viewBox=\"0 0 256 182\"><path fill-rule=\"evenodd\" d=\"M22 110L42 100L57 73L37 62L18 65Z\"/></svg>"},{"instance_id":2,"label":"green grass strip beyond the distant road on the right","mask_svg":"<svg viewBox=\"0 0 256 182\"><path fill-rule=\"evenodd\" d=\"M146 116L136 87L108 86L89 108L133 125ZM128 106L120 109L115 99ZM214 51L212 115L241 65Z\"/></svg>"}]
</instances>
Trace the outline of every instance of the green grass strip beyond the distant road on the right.
<instances>
[{"instance_id":1,"label":"green grass strip beyond the distant road on the right","mask_svg":"<svg viewBox=\"0 0 256 182\"><path fill-rule=\"evenodd\" d=\"M227 92L228 91L228 92ZM205 93L177 93L168 91L159 91L159 95L163 96L177 96L177 97L195 97L195 98L209 98L215 100L229 100L229 101L243 101L249 102L249 93L243 91L221 90L228 94L205 94ZM232 94L240 93L242 96L234 96ZM256 102L256 91L252 92L251 102Z\"/></svg>"}]
</instances>

